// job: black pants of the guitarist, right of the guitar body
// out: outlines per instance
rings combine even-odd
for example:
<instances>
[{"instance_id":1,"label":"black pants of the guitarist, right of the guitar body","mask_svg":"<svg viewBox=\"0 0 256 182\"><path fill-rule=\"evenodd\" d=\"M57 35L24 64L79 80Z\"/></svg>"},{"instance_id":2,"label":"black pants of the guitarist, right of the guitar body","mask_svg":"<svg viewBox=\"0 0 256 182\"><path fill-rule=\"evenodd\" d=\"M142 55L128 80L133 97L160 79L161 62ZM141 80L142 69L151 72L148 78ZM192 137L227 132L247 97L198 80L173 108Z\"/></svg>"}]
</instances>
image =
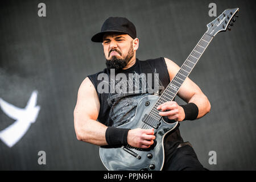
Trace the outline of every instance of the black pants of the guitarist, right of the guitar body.
<instances>
[{"instance_id":1,"label":"black pants of the guitarist, right of the guitar body","mask_svg":"<svg viewBox=\"0 0 256 182\"><path fill-rule=\"evenodd\" d=\"M164 171L205 171L197 159L196 153L189 145L176 148L167 154L164 160Z\"/></svg>"}]
</instances>

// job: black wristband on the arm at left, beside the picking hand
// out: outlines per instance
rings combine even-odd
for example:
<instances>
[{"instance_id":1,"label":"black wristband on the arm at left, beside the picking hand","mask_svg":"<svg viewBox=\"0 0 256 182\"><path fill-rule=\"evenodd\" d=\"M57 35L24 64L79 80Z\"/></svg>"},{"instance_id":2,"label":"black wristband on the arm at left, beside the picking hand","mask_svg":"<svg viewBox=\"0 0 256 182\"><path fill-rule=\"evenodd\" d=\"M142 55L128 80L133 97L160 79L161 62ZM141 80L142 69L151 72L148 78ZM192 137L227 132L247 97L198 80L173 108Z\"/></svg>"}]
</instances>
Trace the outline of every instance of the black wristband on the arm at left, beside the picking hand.
<instances>
[{"instance_id":1,"label":"black wristband on the arm at left, beside the picking hand","mask_svg":"<svg viewBox=\"0 0 256 182\"><path fill-rule=\"evenodd\" d=\"M127 145L127 135L130 129L121 129L117 127L108 127L106 129L106 142L109 145Z\"/></svg>"}]
</instances>

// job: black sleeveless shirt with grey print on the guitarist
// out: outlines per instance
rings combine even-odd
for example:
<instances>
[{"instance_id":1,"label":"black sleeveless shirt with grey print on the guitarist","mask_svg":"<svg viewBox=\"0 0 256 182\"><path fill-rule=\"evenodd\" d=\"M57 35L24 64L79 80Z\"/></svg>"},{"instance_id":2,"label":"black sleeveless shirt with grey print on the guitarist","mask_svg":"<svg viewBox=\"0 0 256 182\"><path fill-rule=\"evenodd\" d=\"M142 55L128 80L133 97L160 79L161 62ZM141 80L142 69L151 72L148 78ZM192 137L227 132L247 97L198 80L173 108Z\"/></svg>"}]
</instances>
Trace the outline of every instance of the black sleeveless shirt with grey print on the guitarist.
<instances>
[{"instance_id":1,"label":"black sleeveless shirt with grey print on the guitarist","mask_svg":"<svg viewBox=\"0 0 256 182\"><path fill-rule=\"evenodd\" d=\"M122 78L115 77L119 73L122 73ZM125 76L126 79L123 79ZM156 91L157 88L159 94L162 94L170 83L170 76L163 57L144 61L136 59L132 67L122 69L121 72L115 71L113 74L113 70L105 68L101 72L88 75L88 78L92 81L100 101L97 120L106 126L114 127L133 119L137 104L142 97L152 94L152 90ZM159 82L158 85L155 84L155 81ZM129 88L133 88L133 90L129 90ZM164 120L172 122L168 118L164 118ZM177 126L164 139L165 151L172 152L173 148L181 142L183 139L180 136L179 126Z\"/></svg>"}]
</instances>

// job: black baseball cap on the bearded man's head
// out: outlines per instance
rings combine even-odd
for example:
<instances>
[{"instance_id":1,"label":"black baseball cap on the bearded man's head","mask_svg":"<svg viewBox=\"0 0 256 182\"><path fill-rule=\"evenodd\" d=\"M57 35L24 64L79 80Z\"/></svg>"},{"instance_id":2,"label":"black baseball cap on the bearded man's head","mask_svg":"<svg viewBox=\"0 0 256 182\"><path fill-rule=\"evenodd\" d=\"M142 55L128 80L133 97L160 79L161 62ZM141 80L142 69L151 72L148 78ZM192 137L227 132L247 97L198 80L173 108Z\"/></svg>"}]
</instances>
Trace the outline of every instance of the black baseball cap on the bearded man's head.
<instances>
[{"instance_id":1,"label":"black baseball cap on the bearded man's head","mask_svg":"<svg viewBox=\"0 0 256 182\"><path fill-rule=\"evenodd\" d=\"M92 37L92 42L103 42L103 35L106 32L120 32L128 34L131 38L137 38L136 28L127 18L109 17L102 24L101 32L98 32Z\"/></svg>"}]
</instances>

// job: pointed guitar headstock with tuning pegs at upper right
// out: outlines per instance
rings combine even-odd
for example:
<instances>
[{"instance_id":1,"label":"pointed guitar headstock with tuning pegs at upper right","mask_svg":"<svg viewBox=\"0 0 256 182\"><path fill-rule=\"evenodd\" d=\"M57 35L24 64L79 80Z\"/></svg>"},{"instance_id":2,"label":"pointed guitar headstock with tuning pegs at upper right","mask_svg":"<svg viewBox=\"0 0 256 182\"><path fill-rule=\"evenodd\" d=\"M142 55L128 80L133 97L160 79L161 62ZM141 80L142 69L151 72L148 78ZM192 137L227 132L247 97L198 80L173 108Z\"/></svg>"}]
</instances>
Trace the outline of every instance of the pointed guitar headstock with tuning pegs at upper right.
<instances>
[{"instance_id":1,"label":"pointed guitar headstock with tuning pegs at upper right","mask_svg":"<svg viewBox=\"0 0 256 182\"><path fill-rule=\"evenodd\" d=\"M215 36L220 31L230 30L230 26L233 26L233 23L236 22L236 14L239 11L239 8L235 9L226 9L223 13L220 14L216 19L207 24L208 31L207 34Z\"/></svg>"}]
</instances>

